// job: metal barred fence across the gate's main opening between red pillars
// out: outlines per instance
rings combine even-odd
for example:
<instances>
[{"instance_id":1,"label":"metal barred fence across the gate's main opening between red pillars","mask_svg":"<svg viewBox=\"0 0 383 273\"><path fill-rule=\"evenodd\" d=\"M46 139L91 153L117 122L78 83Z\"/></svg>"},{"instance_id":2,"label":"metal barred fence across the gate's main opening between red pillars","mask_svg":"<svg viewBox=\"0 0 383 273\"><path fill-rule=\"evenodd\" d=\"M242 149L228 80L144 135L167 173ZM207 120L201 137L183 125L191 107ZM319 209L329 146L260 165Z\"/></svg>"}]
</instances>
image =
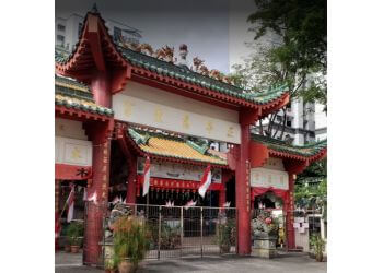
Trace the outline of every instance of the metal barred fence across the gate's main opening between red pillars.
<instances>
[{"instance_id":1,"label":"metal barred fence across the gate's main opening between red pillars","mask_svg":"<svg viewBox=\"0 0 383 273\"><path fill-rule=\"evenodd\" d=\"M146 259L236 253L236 209L128 204L150 234ZM104 218L106 228L108 217ZM104 232L105 234L105 232ZM105 247L102 260L111 258Z\"/></svg>"}]
</instances>

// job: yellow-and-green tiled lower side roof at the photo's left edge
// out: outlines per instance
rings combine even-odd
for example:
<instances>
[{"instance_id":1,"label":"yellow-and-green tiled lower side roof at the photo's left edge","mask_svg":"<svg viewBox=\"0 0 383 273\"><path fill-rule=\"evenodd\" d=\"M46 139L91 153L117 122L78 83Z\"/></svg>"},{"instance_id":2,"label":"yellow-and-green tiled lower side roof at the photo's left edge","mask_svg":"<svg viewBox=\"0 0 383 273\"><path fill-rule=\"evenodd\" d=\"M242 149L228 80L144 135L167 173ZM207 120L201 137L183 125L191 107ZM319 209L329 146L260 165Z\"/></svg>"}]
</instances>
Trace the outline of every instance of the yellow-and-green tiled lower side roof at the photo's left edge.
<instances>
[{"instance_id":1,"label":"yellow-and-green tiled lower side roof at the photo's left edge","mask_svg":"<svg viewBox=\"0 0 383 273\"><path fill-rule=\"evenodd\" d=\"M90 88L73 79L55 75L55 104L93 114L113 116L113 110L95 104Z\"/></svg>"}]
</instances>

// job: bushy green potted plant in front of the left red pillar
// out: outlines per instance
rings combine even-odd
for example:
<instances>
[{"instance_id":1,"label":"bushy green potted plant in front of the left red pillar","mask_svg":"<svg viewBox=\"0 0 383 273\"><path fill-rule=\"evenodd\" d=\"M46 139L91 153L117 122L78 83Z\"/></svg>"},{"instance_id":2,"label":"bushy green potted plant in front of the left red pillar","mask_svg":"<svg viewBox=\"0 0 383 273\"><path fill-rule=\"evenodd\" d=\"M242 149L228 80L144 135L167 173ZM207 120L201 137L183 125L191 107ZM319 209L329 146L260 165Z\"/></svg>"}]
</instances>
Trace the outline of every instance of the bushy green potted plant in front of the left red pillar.
<instances>
[{"instance_id":1,"label":"bushy green potted plant in front of the left red pillar","mask_svg":"<svg viewBox=\"0 0 383 273\"><path fill-rule=\"evenodd\" d=\"M119 273L134 273L149 249L144 222L135 216L121 216L114 224L114 257Z\"/></svg>"}]
</instances>

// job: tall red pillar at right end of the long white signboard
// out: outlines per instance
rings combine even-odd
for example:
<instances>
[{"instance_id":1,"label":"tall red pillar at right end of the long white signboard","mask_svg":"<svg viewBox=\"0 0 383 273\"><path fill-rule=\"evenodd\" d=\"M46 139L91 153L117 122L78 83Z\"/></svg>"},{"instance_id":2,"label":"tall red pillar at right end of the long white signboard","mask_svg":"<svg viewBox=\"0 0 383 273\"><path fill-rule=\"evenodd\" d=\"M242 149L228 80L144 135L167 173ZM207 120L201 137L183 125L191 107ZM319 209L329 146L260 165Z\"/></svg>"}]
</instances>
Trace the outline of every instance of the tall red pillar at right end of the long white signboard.
<instances>
[{"instance_id":1,"label":"tall red pillar at right end of the long white signboard","mask_svg":"<svg viewBox=\"0 0 383 273\"><path fill-rule=\"evenodd\" d=\"M235 169L235 205L237 209L237 252L249 254L251 191L249 191L249 126L241 124L240 158Z\"/></svg>"}]
</instances>

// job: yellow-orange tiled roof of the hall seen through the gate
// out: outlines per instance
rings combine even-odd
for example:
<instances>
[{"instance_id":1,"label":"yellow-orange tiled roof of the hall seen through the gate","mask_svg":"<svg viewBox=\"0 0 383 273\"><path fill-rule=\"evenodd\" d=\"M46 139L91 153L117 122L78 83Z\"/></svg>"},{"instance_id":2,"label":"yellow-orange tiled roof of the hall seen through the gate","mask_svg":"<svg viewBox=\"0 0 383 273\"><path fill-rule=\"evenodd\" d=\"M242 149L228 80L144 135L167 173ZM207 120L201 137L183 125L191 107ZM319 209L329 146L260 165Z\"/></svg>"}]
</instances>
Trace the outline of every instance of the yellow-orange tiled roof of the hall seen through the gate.
<instances>
[{"instance_id":1,"label":"yellow-orange tiled roof of the hall seen through the gate","mask_svg":"<svg viewBox=\"0 0 383 273\"><path fill-rule=\"evenodd\" d=\"M146 136L148 135L148 136ZM202 154L183 138L165 135L161 132L149 132L138 129L128 129L128 136L130 136L135 143L144 153L160 155L165 157L174 157L187 161L211 163L217 165L227 165L227 161L209 154L207 151ZM143 143L143 138L147 138L147 142Z\"/></svg>"}]
</instances>

